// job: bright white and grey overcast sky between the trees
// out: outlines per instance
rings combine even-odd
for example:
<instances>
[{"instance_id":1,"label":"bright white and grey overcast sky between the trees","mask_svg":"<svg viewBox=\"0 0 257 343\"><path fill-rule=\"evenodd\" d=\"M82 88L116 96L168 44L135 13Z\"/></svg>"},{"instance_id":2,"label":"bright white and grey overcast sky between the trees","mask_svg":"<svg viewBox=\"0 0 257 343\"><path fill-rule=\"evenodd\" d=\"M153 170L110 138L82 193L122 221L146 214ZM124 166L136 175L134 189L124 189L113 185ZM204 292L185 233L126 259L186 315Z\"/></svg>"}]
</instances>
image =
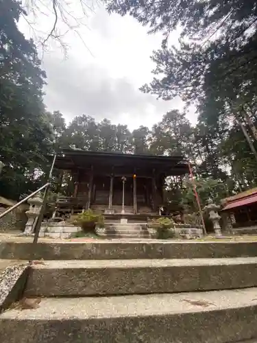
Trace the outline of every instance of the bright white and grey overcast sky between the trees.
<instances>
[{"instance_id":1,"label":"bright white and grey overcast sky between the trees","mask_svg":"<svg viewBox=\"0 0 257 343\"><path fill-rule=\"evenodd\" d=\"M53 17L47 13L51 2L47 1L51 0L45 0L45 14L36 25L43 32L51 29L53 23ZM80 8L75 10L81 12ZM85 25L63 38L68 46L66 58L53 41L43 55L48 110L60 110L66 121L86 114L97 121L108 118L113 123L126 123L133 130L140 125L151 128L168 110L183 109L180 99L164 102L138 90L152 79L151 51L160 47L161 35L148 35L147 28L132 17L109 15L101 5L88 11L82 23ZM34 36L24 21L20 27L26 36ZM66 32L66 27L59 27ZM171 40L175 42L177 38L174 35ZM188 113L188 119L195 123L194 110Z\"/></svg>"}]
</instances>

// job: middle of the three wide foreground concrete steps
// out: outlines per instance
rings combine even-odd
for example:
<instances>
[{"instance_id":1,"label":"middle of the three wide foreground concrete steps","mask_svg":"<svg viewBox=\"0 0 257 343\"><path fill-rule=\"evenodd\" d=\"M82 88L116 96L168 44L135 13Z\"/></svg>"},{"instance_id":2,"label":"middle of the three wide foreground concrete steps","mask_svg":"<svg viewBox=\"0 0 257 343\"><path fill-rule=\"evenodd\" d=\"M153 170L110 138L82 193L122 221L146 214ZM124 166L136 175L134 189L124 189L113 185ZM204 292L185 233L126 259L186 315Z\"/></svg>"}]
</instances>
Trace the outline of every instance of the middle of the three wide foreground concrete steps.
<instances>
[{"instance_id":1,"label":"middle of the three wide foreground concrete steps","mask_svg":"<svg viewBox=\"0 0 257 343\"><path fill-rule=\"evenodd\" d=\"M45 261L25 296L150 294L257 286L257 257Z\"/></svg>"}]
</instances>

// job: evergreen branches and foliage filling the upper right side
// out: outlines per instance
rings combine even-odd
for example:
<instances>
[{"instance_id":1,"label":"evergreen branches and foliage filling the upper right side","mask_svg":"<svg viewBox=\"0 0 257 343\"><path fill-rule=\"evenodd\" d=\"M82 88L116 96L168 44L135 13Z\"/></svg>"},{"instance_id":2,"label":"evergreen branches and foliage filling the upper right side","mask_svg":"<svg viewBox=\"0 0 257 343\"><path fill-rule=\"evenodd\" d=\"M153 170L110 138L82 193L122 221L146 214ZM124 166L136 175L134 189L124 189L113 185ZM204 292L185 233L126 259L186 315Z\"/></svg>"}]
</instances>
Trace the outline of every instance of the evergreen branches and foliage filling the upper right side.
<instances>
[{"instance_id":1,"label":"evergreen branches and foliage filling the upper right side","mask_svg":"<svg viewBox=\"0 0 257 343\"><path fill-rule=\"evenodd\" d=\"M164 35L162 47L151 56L154 79L140 89L162 99L180 95L187 104L197 105L199 120L185 141L190 154L182 148L195 164L195 173L221 180L228 192L256 186L256 158L238 125L243 123L256 149L257 134L251 129L257 110L256 0L106 0L106 4L109 12L130 14L150 33ZM169 35L175 29L180 32L179 44L172 46ZM178 144L160 126L154 131L154 152L163 153L165 141L170 147Z\"/></svg>"}]
</instances>

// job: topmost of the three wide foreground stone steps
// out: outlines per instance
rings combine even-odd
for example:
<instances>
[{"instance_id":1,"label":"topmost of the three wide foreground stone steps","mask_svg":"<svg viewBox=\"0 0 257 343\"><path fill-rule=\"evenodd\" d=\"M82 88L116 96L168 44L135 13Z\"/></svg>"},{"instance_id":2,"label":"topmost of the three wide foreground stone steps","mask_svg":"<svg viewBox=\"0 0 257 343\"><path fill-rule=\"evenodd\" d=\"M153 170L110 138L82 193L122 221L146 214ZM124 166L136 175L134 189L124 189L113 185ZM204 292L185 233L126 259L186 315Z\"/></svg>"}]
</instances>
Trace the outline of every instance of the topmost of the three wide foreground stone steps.
<instances>
[{"instance_id":1,"label":"topmost of the three wide foreground stone steps","mask_svg":"<svg viewBox=\"0 0 257 343\"><path fill-rule=\"evenodd\" d=\"M197 259L257 257L257 241L0 241L0 259Z\"/></svg>"}]
</instances>

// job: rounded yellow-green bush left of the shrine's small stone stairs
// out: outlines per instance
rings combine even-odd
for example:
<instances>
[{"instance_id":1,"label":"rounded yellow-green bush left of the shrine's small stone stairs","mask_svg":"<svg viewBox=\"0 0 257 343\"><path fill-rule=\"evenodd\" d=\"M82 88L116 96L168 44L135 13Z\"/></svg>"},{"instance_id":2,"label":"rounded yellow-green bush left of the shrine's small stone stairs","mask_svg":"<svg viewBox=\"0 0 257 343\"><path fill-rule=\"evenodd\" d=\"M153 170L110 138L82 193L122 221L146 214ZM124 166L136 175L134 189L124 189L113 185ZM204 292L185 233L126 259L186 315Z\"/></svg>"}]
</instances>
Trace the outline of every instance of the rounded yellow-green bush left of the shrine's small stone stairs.
<instances>
[{"instance_id":1,"label":"rounded yellow-green bush left of the shrine's small stone stairs","mask_svg":"<svg viewBox=\"0 0 257 343\"><path fill-rule=\"evenodd\" d=\"M91 209L73 215L71 217L73 225L80 226L85 233L95 233L95 227L103 227L103 215L94 213Z\"/></svg>"}]
</instances>

